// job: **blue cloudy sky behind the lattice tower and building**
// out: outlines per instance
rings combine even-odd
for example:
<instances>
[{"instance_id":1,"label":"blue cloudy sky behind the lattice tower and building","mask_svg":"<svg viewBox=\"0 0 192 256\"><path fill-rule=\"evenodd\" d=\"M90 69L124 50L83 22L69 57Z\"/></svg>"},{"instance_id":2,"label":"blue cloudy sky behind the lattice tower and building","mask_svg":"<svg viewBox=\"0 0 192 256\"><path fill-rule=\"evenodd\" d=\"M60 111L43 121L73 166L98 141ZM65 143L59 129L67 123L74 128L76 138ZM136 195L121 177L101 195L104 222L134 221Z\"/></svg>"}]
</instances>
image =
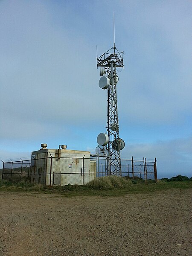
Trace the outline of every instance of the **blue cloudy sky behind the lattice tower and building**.
<instances>
[{"instance_id":1,"label":"blue cloudy sky behind the lattice tower and building","mask_svg":"<svg viewBox=\"0 0 192 256\"><path fill-rule=\"evenodd\" d=\"M192 176L192 1L1 0L0 159L47 143L94 153L107 92L98 55L124 51L117 84L122 157Z\"/></svg>"}]
</instances>

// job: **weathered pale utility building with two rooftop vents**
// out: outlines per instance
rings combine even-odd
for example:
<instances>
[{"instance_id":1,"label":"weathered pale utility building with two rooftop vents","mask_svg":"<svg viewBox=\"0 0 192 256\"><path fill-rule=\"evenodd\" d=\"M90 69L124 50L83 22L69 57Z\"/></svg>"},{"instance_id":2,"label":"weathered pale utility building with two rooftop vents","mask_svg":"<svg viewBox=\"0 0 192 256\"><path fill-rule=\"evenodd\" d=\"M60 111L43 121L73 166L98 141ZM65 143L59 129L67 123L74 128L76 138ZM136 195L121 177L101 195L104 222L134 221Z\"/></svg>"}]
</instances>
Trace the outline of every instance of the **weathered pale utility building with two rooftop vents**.
<instances>
[{"instance_id":1,"label":"weathered pale utility building with two rooftop vents","mask_svg":"<svg viewBox=\"0 0 192 256\"><path fill-rule=\"evenodd\" d=\"M31 181L47 186L84 185L96 178L96 161L90 160L89 151L44 146L32 151L31 172Z\"/></svg>"}]
</instances>

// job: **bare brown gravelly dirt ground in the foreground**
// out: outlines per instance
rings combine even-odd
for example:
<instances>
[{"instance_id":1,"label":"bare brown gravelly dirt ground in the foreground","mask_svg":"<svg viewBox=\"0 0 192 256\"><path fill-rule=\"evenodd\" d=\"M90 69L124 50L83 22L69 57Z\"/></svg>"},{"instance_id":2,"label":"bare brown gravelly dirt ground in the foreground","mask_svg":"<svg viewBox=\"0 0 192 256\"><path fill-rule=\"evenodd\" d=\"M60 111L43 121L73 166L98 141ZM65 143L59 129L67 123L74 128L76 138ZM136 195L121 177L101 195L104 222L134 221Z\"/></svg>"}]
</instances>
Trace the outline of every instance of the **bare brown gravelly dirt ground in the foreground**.
<instances>
[{"instance_id":1,"label":"bare brown gravelly dirt ground in the foreground","mask_svg":"<svg viewBox=\"0 0 192 256\"><path fill-rule=\"evenodd\" d=\"M0 192L0 256L191 256L191 190L122 197Z\"/></svg>"}]
</instances>

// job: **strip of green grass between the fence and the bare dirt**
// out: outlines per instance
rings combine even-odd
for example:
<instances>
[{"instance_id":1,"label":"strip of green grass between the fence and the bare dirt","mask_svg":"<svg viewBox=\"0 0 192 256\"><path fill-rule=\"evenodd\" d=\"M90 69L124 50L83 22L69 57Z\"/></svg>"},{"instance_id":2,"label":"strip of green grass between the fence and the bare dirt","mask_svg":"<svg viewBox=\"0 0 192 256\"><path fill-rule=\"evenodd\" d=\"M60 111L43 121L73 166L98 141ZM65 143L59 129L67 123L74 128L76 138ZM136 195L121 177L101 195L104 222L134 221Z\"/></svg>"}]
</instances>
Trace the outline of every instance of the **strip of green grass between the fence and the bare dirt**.
<instances>
[{"instance_id":1,"label":"strip of green grass between the fence and the bare dirt","mask_svg":"<svg viewBox=\"0 0 192 256\"><path fill-rule=\"evenodd\" d=\"M117 177L115 175L99 177L91 180L86 185L67 185L67 186L44 186L41 184L30 183L29 181L11 182L0 180L0 191L9 192L38 192L47 194L61 194L70 196L121 196L127 194L145 194L163 191L166 189L192 189L190 180L166 181L159 180L157 183L151 182L147 185L140 180L132 183L130 179Z\"/></svg>"}]
</instances>

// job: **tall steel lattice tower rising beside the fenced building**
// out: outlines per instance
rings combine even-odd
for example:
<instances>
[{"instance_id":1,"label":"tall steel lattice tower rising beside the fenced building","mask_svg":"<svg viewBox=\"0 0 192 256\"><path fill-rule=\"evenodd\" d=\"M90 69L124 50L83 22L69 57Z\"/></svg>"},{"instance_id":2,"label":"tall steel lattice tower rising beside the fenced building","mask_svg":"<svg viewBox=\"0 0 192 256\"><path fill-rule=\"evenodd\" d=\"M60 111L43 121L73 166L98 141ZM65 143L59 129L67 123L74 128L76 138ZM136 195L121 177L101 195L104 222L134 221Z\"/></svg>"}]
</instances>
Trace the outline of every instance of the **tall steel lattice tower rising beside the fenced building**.
<instances>
[{"instance_id":1,"label":"tall steel lattice tower rising beside the fenced building","mask_svg":"<svg viewBox=\"0 0 192 256\"><path fill-rule=\"evenodd\" d=\"M121 176L121 157L120 150L124 148L125 143L119 138L119 119L117 112L117 93L116 84L118 76L116 75L116 67L123 68L122 55L114 46L107 52L97 57L97 67L104 67L103 74L110 79L108 85L108 109L107 109L107 167L106 171L109 175L115 174ZM102 69L101 69L102 70ZM102 71L101 71L102 72ZM100 73L101 74L101 73ZM101 74L102 75L102 74ZM105 88L103 88L105 89Z\"/></svg>"}]
</instances>

